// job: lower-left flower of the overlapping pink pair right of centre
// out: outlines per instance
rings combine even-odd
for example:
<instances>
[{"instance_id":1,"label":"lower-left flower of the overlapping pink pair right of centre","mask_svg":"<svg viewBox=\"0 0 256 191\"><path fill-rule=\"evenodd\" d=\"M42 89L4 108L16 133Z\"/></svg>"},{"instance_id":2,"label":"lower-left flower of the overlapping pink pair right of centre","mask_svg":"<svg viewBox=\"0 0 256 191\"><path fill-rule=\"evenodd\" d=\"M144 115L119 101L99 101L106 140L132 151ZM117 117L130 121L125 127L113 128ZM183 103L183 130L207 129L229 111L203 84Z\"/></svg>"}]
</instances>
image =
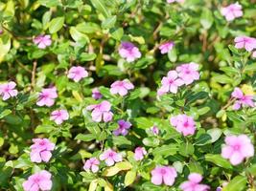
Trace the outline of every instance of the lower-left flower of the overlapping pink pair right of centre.
<instances>
[{"instance_id":1,"label":"lower-left flower of the overlapping pink pair right of centre","mask_svg":"<svg viewBox=\"0 0 256 191\"><path fill-rule=\"evenodd\" d=\"M184 83L183 81L178 78L178 74L175 71L169 71L166 77L163 77L161 84L162 86L158 90L160 93L177 93L177 88L182 86ZM160 94L161 95L161 94Z\"/></svg>"}]
</instances>

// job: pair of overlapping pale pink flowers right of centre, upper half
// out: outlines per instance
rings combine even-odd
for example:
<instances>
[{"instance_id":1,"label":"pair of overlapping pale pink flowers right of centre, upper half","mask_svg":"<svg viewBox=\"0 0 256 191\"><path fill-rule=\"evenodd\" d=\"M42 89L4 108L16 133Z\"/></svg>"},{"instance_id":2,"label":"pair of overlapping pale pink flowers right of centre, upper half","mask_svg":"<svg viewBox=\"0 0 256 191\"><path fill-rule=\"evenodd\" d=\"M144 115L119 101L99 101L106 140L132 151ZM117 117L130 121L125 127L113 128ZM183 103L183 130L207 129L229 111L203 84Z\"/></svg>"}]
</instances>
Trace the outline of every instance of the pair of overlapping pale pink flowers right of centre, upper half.
<instances>
[{"instance_id":1,"label":"pair of overlapping pale pink flowers right of centre, upper half","mask_svg":"<svg viewBox=\"0 0 256 191\"><path fill-rule=\"evenodd\" d=\"M178 87L189 85L199 79L198 64L191 62L176 67L175 71L169 71L161 80L161 87L157 91L158 96L166 93L176 94Z\"/></svg>"}]
</instances>

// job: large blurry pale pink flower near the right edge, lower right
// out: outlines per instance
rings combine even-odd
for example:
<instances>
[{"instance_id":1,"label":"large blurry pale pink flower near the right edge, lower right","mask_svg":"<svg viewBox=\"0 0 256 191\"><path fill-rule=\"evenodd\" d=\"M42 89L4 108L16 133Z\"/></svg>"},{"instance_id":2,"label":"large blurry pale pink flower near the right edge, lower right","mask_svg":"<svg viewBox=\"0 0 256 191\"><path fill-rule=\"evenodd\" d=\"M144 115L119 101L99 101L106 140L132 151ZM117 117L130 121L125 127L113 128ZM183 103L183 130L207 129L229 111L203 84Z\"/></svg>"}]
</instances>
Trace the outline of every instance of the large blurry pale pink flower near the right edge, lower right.
<instances>
[{"instance_id":1,"label":"large blurry pale pink flower near the right edge, lower right","mask_svg":"<svg viewBox=\"0 0 256 191\"><path fill-rule=\"evenodd\" d=\"M221 156L224 159L229 159L231 164L237 165L245 158L254 156L254 147L250 138L245 135L229 136L225 138Z\"/></svg>"}]
</instances>

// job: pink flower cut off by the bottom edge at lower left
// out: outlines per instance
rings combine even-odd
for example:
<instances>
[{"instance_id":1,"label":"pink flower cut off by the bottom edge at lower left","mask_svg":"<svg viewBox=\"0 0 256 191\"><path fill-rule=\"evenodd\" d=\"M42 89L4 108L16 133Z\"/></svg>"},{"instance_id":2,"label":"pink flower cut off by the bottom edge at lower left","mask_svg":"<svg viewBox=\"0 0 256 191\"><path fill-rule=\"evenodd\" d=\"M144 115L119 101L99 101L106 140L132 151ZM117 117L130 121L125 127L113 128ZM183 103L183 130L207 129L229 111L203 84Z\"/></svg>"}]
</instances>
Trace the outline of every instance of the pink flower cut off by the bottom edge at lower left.
<instances>
[{"instance_id":1,"label":"pink flower cut off by the bottom edge at lower left","mask_svg":"<svg viewBox=\"0 0 256 191\"><path fill-rule=\"evenodd\" d=\"M25 191L49 191L52 189L51 173L46 170L42 170L34 175L30 176L28 180L22 183Z\"/></svg>"}]
</instances>

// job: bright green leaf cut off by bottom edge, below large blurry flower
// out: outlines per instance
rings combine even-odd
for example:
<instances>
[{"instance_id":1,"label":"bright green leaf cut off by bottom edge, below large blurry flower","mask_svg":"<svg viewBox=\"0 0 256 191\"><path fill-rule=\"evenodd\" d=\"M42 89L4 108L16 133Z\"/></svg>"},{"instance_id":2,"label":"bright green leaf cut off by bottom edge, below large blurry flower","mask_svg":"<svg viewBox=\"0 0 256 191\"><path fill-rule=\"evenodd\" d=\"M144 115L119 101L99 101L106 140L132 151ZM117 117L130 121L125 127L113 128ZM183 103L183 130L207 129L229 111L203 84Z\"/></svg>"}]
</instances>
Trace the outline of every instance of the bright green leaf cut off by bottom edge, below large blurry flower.
<instances>
[{"instance_id":1,"label":"bright green leaf cut off by bottom edge, below large blurry flower","mask_svg":"<svg viewBox=\"0 0 256 191\"><path fill-rule=\"evenodd\" d=\"M246 177L237 176L223 188L223 191L243 191L246 186L246 182Z\"/></svg>"}]
</instances>

